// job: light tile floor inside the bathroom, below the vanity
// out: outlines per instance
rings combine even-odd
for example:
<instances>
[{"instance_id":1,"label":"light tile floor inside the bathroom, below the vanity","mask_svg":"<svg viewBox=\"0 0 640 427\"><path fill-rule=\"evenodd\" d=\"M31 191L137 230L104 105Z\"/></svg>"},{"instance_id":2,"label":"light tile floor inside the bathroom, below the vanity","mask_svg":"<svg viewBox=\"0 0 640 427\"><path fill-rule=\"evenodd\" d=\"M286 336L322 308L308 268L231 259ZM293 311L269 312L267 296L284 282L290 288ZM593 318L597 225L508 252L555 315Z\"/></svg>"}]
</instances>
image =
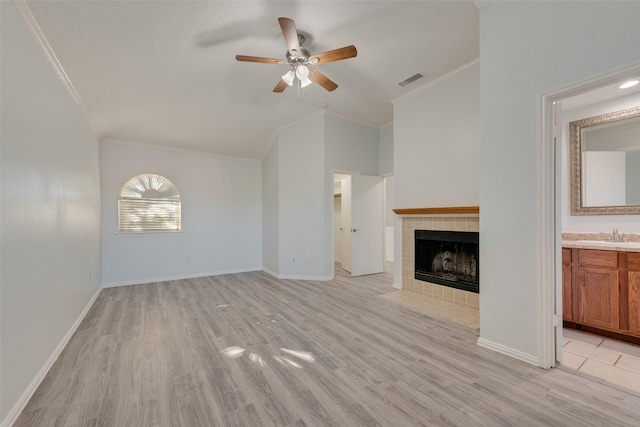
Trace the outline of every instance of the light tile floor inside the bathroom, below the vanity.
<instances>
[{"instance_id":1,"label":"light tile floor inside the bathroom, below the vanity","mask_svg":"<svg viewBox=\"0 0 640 427\"><path fill-rule=\"evenodd\" d=\"M640 346L564 329L561 365L640 393Z\"/></svg>"}]
</instances>

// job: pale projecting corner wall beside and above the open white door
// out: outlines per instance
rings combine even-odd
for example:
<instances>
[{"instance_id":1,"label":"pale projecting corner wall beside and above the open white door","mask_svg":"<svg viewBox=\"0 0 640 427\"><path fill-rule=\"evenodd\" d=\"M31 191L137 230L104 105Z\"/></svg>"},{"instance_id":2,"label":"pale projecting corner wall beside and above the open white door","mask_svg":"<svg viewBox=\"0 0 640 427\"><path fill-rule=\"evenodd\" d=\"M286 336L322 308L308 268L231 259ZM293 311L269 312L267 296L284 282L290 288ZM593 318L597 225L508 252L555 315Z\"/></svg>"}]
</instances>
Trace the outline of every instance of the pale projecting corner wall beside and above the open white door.
<instances>
[{"instance_id":1,"label":"pale projecting corner wall beside and above the open white door","mask_svg":"<svg viewBox=\"0 0 640 427\"><path fill-rule=\"evenodd\" d=\"M264 231L265 250L278 250L278 268L267 271L282 278L332 277L333 172L377 175L378 151L377 129L325 111L279 130L263 161L265 168L278 171L277 180L269 181L277 186L269 196L277 195L277 206L264 201L278 217L277 230L264 225L273 228Z\"/></svg>"}]
</instances>

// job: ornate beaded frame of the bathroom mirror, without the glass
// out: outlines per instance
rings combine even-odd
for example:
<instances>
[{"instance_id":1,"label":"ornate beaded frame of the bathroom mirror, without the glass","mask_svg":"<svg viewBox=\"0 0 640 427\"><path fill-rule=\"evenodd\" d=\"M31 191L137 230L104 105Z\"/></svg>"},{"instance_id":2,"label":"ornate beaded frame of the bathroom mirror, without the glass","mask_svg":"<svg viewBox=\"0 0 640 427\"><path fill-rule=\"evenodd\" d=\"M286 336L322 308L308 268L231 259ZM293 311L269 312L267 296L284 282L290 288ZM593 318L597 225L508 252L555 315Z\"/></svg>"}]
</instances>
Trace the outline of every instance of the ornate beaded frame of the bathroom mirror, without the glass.
<instances>
[{"instance_id":1,"label":"ornate beaded frame of the bathroom mirror, without the glass","mask_svg":"<svg viewBox=\"0 0 640 427\"><path fill-rule=\"evenodd\" d=\"M569 168L571 185L571 215L638 215L640 205L583 206L582 205L582 130L591 126L612 123L640 116L640 107L576 120L569 123Z\"/></svg>"}]
</instances>

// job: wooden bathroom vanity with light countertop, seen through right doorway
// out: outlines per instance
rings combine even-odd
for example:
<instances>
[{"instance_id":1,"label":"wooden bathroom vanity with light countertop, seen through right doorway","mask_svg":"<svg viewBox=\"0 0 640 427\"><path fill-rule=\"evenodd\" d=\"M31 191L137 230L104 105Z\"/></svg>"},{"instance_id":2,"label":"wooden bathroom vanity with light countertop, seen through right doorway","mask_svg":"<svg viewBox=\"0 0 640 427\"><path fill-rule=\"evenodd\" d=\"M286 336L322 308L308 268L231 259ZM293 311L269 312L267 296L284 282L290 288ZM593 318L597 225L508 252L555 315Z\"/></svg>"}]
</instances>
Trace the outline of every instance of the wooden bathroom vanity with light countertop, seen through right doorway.
<instances>
[{"instance_id":1,"label":"wooden bathroom vanity with light countertop, seen through right doorway","mask_svg":"<svg viewBox=\"0 0 640 427\"><path fill-rule=\"evenodd\" d=\"M562 246L565 325L640 343L640 242L563 239Z\"/></svg>"}]
</instances>

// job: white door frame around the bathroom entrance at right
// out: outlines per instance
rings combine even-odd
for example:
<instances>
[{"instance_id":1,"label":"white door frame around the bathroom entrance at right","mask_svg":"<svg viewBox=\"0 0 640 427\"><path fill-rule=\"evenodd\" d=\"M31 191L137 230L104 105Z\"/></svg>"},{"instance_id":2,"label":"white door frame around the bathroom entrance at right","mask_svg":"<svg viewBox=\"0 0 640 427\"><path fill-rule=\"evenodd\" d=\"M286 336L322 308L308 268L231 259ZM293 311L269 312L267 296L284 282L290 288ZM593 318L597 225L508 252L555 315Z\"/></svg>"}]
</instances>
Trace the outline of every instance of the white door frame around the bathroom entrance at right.
<instances>
[{"instance_id":1,"label":"white door frame around the bathroom entrance at right","mask_svg":"<svg viewBox=\"0 0 640 427\"><path fill-rule=\"evenodd\" d=\"M538 366L541 368L556 366L556 333L562 334L562 313L556 315L556 289L562 287L562 275L559 273L562 265L558 263L558 252L562 245L562 217L555 216L556 204L561 199L556 199L555 193L554 102L639 74L640 61L636 61L536 96L537 348ZM562 306L562 301L559 305Z\"/></svg>"}]
</instances>

